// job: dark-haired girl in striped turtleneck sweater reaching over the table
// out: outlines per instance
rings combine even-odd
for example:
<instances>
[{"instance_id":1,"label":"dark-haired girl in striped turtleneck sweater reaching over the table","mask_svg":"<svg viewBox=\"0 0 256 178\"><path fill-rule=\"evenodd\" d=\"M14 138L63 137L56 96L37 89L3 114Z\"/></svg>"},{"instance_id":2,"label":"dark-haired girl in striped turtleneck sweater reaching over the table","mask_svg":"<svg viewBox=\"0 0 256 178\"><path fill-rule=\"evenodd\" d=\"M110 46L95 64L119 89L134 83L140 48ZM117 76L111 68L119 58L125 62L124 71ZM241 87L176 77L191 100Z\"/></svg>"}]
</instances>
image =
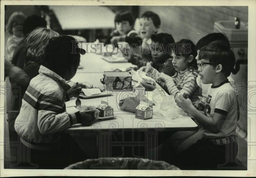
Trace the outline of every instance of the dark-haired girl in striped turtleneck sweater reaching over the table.
<instances>
[{"instance_id":1,"label":"dark-haired girl in striped turtleneck sweater reaching over the table","mask_svg":"<svg viewBox=\"0 0 256 178\"><path fill-rule=\"evenodd\" d=\"M156 79L175 99L182 93L193 102L198 99L199 94L196 83L198 76L196 56L195 44L190 40L182 39L175 43L172 53L172 64L176 70L174 76L170 77L164 73L159 73L150 65L147 66L145 72Z\"/></svg>"}]
</instances>

